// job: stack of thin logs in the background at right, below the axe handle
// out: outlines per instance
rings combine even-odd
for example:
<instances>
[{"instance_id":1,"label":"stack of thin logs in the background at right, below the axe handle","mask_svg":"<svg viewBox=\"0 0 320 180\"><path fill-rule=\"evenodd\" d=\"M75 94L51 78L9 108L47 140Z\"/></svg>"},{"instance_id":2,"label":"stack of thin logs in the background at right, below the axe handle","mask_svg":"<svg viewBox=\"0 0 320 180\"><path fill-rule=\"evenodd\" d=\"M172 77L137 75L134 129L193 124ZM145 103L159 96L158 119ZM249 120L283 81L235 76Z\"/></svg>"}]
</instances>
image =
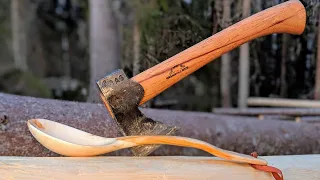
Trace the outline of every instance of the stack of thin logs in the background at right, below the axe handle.
<instances>
[{"instance_id":1,"label":"stack of thin logs in the background at right, below the axe handle","mask_svg":"<svg viewBox=\"0 0 320 180\"><path fill-rule=\"evenodd\" d=\"M232 116L256 117L264 119L282 119L295 122L320 123L320 101L261 98L247 99L250 108L215 108L213 113Z\"/></svg>"}]
</instances>

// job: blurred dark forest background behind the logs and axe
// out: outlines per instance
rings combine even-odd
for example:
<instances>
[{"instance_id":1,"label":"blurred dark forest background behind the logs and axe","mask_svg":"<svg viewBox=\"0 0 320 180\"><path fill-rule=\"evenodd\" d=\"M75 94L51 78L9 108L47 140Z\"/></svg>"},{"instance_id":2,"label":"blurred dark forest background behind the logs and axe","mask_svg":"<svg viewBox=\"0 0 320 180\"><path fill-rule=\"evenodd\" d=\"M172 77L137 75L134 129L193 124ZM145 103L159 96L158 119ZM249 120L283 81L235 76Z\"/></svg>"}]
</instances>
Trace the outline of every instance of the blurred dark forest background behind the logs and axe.
<instances>
[{"instance_id":1,"label":"blurred dark forest background behind the logs and axe","mask_svg":"<svg viewBox=\"0 0 320 180\"><path fill-rule=\"evenodd\" d=\"M95 81L108 73L121 68L132 77L281 2L0 0L0 91L100 102ZM253 40L186 77L147 106L211 111L245 107L247 97L319 99L319 2L302 3L308 13L303 35Z\"/></svg>"}]
</instances>

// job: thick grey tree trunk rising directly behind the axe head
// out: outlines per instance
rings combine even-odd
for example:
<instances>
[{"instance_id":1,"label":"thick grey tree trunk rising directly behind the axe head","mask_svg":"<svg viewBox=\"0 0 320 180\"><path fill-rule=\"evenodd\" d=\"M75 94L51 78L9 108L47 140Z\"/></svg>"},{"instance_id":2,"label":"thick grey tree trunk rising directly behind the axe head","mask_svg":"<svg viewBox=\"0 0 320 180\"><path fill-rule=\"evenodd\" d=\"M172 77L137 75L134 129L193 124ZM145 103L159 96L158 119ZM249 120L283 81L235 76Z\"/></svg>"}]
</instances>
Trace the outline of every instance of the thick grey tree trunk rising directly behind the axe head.
<instances>
[{"instance_id":1,"label":"thick grey tree trunk rising directly behind the axe head","mask_svg":"<svg viewBox=\"0 0 320 180\"><path fill-rule=\"evenodd\" d=\"M96 82L119 68L120 42L111 1L90 0L89 102L100 102Z\"/></svg>"}]
</instances>

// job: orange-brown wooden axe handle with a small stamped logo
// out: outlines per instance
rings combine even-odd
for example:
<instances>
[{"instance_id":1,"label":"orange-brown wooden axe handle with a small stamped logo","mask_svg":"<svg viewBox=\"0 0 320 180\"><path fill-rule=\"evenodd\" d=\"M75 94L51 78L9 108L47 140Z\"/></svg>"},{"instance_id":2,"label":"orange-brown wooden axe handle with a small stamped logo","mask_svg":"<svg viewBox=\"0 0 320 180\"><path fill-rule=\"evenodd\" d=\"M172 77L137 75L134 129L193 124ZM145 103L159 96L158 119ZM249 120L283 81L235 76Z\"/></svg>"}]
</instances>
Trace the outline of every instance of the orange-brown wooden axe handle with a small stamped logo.
<instances>
[{"instance_id":1,"label":"orange-brown wooden axe handle with a small stamped logo","mask_svg":"<svg viewBox=\"0 0 320 180\"><path fill-rule=\"evenodd\" d=\"M302 34L305 25L306 10L298 0L290 0L254 14L134 76L132 80L140 83L145 91L140 104L252 39L273 33Z\"/></svg>"}]
</instances>

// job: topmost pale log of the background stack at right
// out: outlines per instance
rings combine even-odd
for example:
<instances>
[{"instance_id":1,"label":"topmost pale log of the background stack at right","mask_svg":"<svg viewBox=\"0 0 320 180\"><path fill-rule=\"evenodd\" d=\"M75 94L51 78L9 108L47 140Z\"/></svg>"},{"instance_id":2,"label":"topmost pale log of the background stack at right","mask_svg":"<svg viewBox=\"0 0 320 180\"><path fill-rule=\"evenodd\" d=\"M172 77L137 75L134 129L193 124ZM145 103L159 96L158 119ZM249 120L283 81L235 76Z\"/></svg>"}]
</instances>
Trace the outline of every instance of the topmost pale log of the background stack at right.
<instances>
[{"instance_id":1,"label":"topmost pale log of the background stack at right","mask_svg":"<svg viewBox=\"0 0 320 180\"><path fill-rule=\"evenodd\" d=\"M320 101L285 98L263 98L249 97L248 106L273 106L273 107L298 107L298 108L320 108Z\"/></svg>"}]
</instances>

